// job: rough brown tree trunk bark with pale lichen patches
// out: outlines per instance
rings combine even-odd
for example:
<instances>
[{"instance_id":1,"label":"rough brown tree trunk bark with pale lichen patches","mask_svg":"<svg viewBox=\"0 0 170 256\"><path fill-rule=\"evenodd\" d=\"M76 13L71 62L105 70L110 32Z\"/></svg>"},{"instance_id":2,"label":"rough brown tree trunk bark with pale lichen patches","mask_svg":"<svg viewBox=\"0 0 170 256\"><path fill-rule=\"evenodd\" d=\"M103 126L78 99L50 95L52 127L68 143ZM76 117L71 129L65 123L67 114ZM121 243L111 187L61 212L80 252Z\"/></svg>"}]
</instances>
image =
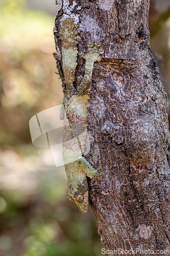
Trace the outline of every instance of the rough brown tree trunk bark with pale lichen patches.
<instances>
[{"instance_id":1,"label":"rough brown tree trunk bark with pale lichen patches","mask_svg":"<svg viewBox=\"0 0 170 256\"><path fill-rule=\"evenodd\" d=\"M79 53L86 53L89 41L100 41L104 49L93 67L91 150L85 156L105 174L102 181L88 178L101 240L109 250L170 250L168 103L150 48L149 0L56 4L56 59L63 83L59 30L64 19L78 25ZM77 62L75 87L85 72L80 55Z\"/></svg>"}]
</instances>

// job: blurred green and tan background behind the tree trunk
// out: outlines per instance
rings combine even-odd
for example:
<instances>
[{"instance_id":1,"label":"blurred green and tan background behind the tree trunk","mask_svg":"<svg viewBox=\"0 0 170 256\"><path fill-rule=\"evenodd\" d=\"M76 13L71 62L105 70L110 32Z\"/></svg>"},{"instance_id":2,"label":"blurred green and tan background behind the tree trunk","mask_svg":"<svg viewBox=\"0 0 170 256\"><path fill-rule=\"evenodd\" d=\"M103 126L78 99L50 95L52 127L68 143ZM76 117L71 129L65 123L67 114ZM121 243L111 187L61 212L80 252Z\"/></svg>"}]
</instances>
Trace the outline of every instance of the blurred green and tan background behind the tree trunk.
<instances>
[{"instance_id":1,"label":"blurred green and tan background behind the tree trunk","mask_svg":"<svg viewBox=\"0 0 170 256\"><path fill-rule=\"evenodd\" d=\"M170 84L168 8L158 8L150 23ZM34 147L30 137L30 118L62 102L55 13L55 1L0 3L0 256L102 255L90 207L82 215L67 200L64 167L55 167L50 148Z\"/></svg>"}]
</instances>

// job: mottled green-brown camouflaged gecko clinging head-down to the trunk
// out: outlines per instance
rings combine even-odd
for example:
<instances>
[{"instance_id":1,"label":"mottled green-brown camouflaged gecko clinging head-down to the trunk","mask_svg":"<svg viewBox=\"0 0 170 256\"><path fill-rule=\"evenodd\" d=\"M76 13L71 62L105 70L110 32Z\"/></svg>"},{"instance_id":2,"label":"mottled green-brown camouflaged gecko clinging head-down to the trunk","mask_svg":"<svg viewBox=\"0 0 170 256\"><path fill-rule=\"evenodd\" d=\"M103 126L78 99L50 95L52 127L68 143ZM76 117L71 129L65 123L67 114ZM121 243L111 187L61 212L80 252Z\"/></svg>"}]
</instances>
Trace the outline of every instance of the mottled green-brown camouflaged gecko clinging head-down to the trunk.
<instances>
[{"instance_id":1,"label":"mottled green-brown camouflaged gecko clinging head-down to the trunk","mask_svg":"<svg viewBox=\"0 0 170 256\"><path fill-rule=\"evenodd\" d=\"M78 56L77 24L74 19L66 18L60 28L62 44L62 64L64 74L64 99L60 118L64 119L63 127L63 160L67 174L68 199L75 201L81 212L88 208L87 177L100 180L102 169L94 169L84 158L89 147L87 101L91 84L93 64L100 61L104 51L100 42L89 42L87 53L80 54L85 59L85 75L80 86L74 86ZM66 115L64 115L66 113Z\"/></svg>"}]
</instances>

